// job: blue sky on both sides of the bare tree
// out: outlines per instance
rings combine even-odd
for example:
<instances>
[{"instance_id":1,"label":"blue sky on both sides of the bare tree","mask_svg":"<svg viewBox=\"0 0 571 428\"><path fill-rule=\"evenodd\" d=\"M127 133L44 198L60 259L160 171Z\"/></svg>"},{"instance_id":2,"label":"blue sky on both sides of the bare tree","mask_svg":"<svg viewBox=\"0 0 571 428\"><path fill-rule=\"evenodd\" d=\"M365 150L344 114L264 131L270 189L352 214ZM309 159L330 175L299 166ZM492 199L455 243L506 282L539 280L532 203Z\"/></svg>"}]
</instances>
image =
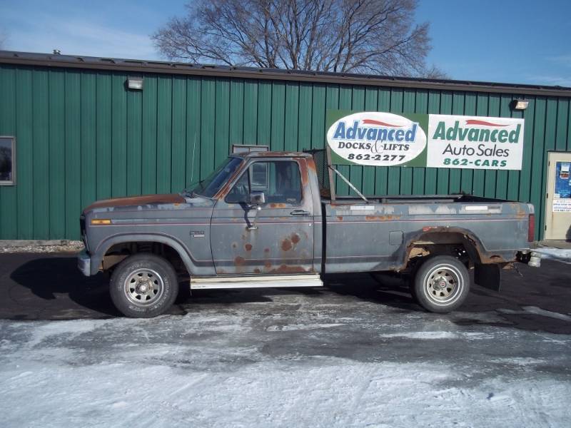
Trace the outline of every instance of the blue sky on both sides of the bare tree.
<instances>
[{"instance_id":1,"label":"blue sky on both sides of the bare tree","mask_svg":"<svg viewBox=\"0 0 571 428\"><path fill-rule=\"evenodd\" d=\"M2 0L0 33L14 51L160 59L148 36L185 3ZM421 0L416 18L450 78L571 86L569 0Z\"/></svg>"}]
</instances>

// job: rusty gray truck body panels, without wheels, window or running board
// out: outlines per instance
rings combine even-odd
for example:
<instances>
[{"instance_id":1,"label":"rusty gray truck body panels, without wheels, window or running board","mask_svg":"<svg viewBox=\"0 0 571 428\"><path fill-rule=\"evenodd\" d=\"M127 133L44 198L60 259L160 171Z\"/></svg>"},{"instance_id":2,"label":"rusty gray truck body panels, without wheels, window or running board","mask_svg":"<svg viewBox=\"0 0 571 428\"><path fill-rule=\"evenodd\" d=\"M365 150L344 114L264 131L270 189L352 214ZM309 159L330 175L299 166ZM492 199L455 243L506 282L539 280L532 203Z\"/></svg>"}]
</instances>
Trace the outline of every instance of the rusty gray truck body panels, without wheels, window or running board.
<instances>
[{"instance_id":1,"label":"rusty gray truck body panels, without wheels, window or running board","mask_svg":"<svg viewBox=\"0 0 571 428\"><path fill-rule=\"evenodd\" d=\"M81 216L85 275L122 243L171 248L191 277L402 271L423 245L461 244L475 265L507 265L530 253L533 205L471 195L323 198L308 153L241 153L231 178L206 198L187 193L103 200ZM252 163L294 161L302 197L258 207L226 195ZM257 216L257 218L256 218ZM101 220L103 224L96 224ZM252 228L256 223L256 228ZM420 250L422 253L422 250Z\"/></svg>"}]
</instances>

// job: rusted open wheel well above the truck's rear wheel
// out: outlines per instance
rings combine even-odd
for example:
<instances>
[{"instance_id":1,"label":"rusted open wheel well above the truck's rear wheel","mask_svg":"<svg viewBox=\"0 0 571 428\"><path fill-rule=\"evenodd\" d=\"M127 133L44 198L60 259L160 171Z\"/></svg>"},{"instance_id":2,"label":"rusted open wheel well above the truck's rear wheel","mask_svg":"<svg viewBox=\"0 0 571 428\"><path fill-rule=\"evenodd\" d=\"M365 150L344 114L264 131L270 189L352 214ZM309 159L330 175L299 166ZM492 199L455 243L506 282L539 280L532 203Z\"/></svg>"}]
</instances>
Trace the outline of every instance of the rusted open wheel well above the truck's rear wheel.
<instances>
[{"instance_id":1,"label":"rusted open wheel well above the truck's rear wheel","mask_svg":"<svg viewBox=\"0 0 571 428\"><path fill-rule=\"evenodd\" d=\"M465 265L480 263L477 244L468 235L460 232L433 232L420 235L408 245L406 267L414 267L421 259L433 255L452 255Z\"/></svg>"}]
</instances>

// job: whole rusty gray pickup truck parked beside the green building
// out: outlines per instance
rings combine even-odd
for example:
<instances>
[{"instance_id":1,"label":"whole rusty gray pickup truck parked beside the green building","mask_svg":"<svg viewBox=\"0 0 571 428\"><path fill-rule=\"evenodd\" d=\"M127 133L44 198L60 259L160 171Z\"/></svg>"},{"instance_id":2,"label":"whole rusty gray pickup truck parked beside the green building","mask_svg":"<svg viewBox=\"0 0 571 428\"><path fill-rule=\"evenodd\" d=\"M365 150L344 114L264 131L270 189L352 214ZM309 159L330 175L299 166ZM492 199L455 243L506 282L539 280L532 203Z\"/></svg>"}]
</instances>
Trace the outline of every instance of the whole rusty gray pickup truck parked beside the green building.
<instances>
[{"instance_id":1,"label":"whole rusty gray pickup truck parked beside the green building","mask_svg":"<svg viewBox=\"0 0 571 428\"><path fill-rule=\"evenodd\" d=\"M154 317L191 290L315 287L339 272L398 272L425 310L450 312L471 282L539 265L534 208L473 195L335 195L330 153L231 154L169 195L100 200L81 215L84 275L111 274L114 305ZM470 271L473 270L473 275ZM473 280L472 280L473 278Z\"/></svg>"}]
</instances>

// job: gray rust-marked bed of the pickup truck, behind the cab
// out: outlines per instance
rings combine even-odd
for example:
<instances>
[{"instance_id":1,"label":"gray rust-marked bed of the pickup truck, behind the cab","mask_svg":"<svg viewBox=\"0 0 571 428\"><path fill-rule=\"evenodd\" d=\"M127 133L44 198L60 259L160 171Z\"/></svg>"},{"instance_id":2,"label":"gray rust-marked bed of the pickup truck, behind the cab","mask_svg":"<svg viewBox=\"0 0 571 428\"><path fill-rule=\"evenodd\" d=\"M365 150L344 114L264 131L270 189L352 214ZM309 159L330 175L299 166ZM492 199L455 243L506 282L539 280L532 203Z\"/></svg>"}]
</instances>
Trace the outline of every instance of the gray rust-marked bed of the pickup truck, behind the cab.
<instances>
[{"instance_id":1,"label":"gray rust-marked bed of the pickup truck, behind the cab","mask_svg":"<svg viewBox=\"0 0 571 428\"><path fill-rule=\"evenodd\" d=\"M411 248L447 240L473 248L481 263L509 263L530 247L530 204L473 195L368 199L322 200L325 272L403 270Z\"/></svg>"}]
</instances>

